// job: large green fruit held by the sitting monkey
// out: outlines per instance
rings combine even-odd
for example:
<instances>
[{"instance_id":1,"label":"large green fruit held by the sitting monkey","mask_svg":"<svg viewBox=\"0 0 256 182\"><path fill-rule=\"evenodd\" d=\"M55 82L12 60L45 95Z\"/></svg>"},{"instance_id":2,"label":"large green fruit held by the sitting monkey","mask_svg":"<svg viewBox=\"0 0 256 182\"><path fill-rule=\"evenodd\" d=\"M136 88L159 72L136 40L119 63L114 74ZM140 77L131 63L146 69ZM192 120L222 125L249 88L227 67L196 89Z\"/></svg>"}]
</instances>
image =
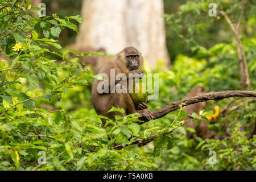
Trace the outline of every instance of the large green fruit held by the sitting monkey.
<instances>
[{"instance_id":1,"label":"large green fruit held by the sitting monkey","mask_svg":"<svg viewBox=\"0 0 256 182\"><path fill-rule=\"evenodd\" d=\"M133 89L133 93L131 93L131 90ZM137 90L137 91L136 91ZM139 91L139 93L135 93ZM142 93L145 92L146 93ZM142 102L146 103L148 98L148 92L146 90L146 84L139 82L137 84L133 85L133 88L129 90L129 94L131 97L131 100L133 100L133 103L135 106L138 106L139 104L142 104Z\"/></svg>"}]
</instances>

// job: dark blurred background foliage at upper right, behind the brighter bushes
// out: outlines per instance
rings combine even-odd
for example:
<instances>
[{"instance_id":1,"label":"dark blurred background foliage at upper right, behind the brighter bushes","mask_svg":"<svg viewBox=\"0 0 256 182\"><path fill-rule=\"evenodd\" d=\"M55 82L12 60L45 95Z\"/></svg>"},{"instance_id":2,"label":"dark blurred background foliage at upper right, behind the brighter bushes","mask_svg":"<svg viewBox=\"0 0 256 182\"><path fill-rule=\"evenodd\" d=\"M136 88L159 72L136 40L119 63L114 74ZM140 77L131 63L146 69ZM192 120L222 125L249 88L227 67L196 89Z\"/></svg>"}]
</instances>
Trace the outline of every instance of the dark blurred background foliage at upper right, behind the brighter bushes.
<instances>
[{"instance_id":1,"label":"dark blurred background foliage at upper right, behind the brighter bushes","mask_svg":"<svg viewBox=\"0 0 256 182\"><path fill-rule=\"evenodd\" d=\"M197 49L191 47L203 46L207 49L217 43L229 43L233 34L228 23L220 16L209 16L210 3L215 3L217 10L223 10L237 23L245 3L240 32L242 37L255 36L255 2L251 0L196 0L196 1L165 1L167 48L172 60L177 55L193 56Z\"/></svg>"}]
</instances>

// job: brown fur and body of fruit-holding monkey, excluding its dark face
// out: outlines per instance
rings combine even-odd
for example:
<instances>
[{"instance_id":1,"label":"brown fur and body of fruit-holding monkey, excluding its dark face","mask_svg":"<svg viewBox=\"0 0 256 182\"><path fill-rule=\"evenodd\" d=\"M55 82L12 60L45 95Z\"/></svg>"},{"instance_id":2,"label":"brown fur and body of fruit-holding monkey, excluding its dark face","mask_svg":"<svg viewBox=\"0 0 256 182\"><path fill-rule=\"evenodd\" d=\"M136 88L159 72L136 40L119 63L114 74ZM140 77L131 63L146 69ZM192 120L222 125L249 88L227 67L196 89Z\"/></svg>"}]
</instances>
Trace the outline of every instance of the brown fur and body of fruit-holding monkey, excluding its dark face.
<instances>
[{"instance_id":1,"label":"brown fur and body of fruit-holding monkey, excluding its dark face","mask_svg":"<svg viewBox=\"0 0 256 182\"><path fill-rule=\"evenodd\" d=\"M129 54L138 54L139 55L139 68L129 71L127 68L127 60L126 55ZM127 47L123 49L123 51L119 52L117 55L113 56L107 63L105 63L99 71L100 73L106 73L108 78L110 78L110 69L115 68L115 76L118 73L125 73L126 77L128 78L129 73L143 73L141 71L143 63L143 57L141 52L133 47ZM109 81L109 90L110 88L110 79ZM115 80L115 85L121 80ZM98 93L97 86L102 82L102 80L94 80L93 87L92 87L92 104L94 109L96 110L98 115L105 115L106 117L112 119L114 121L115 115L122 115L121 113L114 111L110 113L106 113L108 110L114 107L119 107L125 109L125 115L131 113L139 113L148 119L152 119L151 111L147 109L136 110L131 100L129 93ZM125 81L127 84L127 80ZM115 89L115 87L113 88ZM105 119L102 119L102 127L105 125Z\"/></svg>"}]
</instances>

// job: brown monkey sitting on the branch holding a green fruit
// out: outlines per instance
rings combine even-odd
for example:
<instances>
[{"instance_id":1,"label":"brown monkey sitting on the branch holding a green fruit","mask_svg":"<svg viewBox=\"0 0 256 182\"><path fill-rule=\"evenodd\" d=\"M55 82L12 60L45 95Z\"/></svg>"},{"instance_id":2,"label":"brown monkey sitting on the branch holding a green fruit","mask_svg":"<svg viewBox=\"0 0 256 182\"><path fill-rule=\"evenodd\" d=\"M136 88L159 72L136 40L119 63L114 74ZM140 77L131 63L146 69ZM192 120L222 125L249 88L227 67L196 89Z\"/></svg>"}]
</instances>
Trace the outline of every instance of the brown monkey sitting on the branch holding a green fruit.
<instances>
[{"instance_id":1,"label":"brown monkey sitting on the branch holding a green fruit","mask_svg":"<svg viewBox=\"0 0 256 182\"><path fill-rule=\"evenodd\" d=\"M105 73L108 77L105 78L105 80L94 80L92 86L92 104L98 115L105 115L113 120L115 119L115 115L122 116L122 114L117 111L106 113L112 108L112 106L114 106L125 109L125 115L139 113L148 120L154 119L152 112L146 109L146 103L142 103L140 105L141 107L136 110L128 92L115 92L115 88L120 86L118 84L121 83L123 86L127 86L127 90L129 90L129 80L134 78L134 75L131 77L131 74L129 75L129 73L137 73L137 75L135 74L135 77L142 78L144 74L141 70L142 63L143 57L141 52L134 47L126 47L102 66L98 74L100 75L101 73ZM112 71L114 69L114 75L110 74L110 69L112 69ZM126 80L118 78L117 75L119 73L123 73L126 76ZM115 79L114 85L110 84L110 76ZM108 82L108 92L99 93L98 86L102 85L104 81ZM102 127L104 125L105 120L102 119Z\"/></svg>"}]
</instances>

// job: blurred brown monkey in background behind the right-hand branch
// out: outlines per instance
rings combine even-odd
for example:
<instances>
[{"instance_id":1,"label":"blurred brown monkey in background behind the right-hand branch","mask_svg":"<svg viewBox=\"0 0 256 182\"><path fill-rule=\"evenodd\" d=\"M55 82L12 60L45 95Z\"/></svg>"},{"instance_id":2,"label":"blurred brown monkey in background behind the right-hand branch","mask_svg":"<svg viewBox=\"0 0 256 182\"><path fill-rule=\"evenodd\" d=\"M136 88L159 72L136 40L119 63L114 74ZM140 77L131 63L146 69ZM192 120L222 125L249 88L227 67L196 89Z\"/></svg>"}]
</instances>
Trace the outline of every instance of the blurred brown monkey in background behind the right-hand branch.
<instances>
[{"instance_id":1,"label":"blurred brown monkey in background behind the right-hand branch","mask_svg":"<svg viewBox=\"0 0 256 182\"><path fill-rule=\"evenodd\" d=\"M184 97L184 99L199 96L204 93L207 93L207 89L205 89L203 86L197 85L191 90L191 92L189 92ZM192 114L192 111L195 112L196 114L199 114L200 110L203 110L204 107L206 106L206 104L207 104L207 102L198 102L196 104L185 106L184 110L187 112L187 114ZM184 118L184 120L187 120L187 119L192 119L192 118L187 115ZM196 134L203 139L213 138L216 135L214 131L210 131L208 129L208 124L205 123L203 120L200 120L200 125L196 126L195 121L191 121L191 122L188 122L187 124L185 124L185 126L194 128L196 130ZM191 132L187 131L187 138L191 138L192 135L193 134Z\"/></svg>"}]
</instances>

